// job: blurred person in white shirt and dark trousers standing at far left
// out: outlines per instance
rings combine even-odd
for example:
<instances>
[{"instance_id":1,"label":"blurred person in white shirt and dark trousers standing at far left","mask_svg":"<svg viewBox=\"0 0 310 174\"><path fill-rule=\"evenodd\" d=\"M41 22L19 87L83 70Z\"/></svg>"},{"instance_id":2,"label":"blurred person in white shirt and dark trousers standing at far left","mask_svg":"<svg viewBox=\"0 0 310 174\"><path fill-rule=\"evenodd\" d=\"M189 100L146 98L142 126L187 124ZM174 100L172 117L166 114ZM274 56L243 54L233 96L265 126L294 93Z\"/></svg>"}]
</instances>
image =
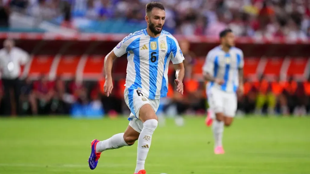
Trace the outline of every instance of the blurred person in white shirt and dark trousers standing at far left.
<instances>
[{"instance_id":1,"label":"blurred person in white shirt and dark trousers standing at far left","mask_svg":"<svg viewBox=\"0 0 310 174\"><path fill-rule=\"evenodd\" d=\"M0 50L0 71L4 86L4 108L5 115L19 114L19 95L20 95L20 72L21 65L29 60L29 54L20 48L15 47L11 39L3 42L4 48ZM12 90L14 98L12 95ZM15 99L15 101L13 101ZM12 107L12 108L11 108ZM13 111L11 113L11 111Z\"/></svg>"}]
</instances>

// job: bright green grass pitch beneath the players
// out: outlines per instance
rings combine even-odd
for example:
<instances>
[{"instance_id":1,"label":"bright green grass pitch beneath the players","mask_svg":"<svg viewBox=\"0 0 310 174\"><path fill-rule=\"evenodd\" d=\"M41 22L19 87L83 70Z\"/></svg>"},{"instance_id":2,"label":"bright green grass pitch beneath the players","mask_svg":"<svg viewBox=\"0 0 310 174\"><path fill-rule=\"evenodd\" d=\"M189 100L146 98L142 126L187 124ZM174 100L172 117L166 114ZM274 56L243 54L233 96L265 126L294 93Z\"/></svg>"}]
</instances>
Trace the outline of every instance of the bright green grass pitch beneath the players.
<instances>
[{"instance_id":1,"label":"bright green grass pitch beneath the players","mask_svg":"<svg viewBox=\"0 0 310 174\"><path fill-rule=\"evenodd\" d=\"M123 132L126 117L0 119L0 174L132 174L137 143L108 150L90 170L90 142ZM235 119L224 130L224 155L213 154L204 118L187 117L184 127L167 120L158 127L148 174L310 174L310 118Z\"/></svg>"}]
</instances>

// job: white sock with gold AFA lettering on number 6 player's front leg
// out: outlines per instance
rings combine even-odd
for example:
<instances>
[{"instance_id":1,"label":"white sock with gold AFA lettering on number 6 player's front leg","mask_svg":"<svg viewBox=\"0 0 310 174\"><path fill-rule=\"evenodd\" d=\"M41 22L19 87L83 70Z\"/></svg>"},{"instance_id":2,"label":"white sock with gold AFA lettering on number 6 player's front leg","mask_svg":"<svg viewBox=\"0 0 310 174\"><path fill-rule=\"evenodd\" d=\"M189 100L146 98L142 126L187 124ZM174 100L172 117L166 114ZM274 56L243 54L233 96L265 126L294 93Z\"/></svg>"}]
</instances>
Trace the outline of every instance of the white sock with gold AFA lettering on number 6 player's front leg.
<instances>
[{"instance_id":1,"label":"white sock with gold AFA lettering on number 6 player's front leg","mask_svg":"<svg viewBox=\"0 0 310 174\"><path fill-rule=\"evenodd\" d=\"M157 128L157 120L146 120L143 123L142 131L138 139L137 166L135 173L144 169L145 159L148 156L148 150L151 147L152 135Z\"/></svg>"}]
</instances>

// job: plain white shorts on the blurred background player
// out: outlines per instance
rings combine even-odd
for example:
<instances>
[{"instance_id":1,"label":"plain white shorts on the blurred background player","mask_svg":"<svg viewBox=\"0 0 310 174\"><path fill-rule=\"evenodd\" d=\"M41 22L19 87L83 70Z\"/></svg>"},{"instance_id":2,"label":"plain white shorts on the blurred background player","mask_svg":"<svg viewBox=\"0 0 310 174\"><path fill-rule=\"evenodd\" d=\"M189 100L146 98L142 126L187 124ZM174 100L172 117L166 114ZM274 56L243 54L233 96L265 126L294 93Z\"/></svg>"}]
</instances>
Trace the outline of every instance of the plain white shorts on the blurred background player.
<instances>
[{"instance_id":1,"label":"plain white shorts on the blurred background player","mask_svg":"<svg viewBox=\"0 0 310 174\"><path fill-rule=\"evenodd\" d=\"M208 104L213 113L234 117L237 111L236 93L227 93L217 88L207 90Z\"/></svg>"}]
</instances>

